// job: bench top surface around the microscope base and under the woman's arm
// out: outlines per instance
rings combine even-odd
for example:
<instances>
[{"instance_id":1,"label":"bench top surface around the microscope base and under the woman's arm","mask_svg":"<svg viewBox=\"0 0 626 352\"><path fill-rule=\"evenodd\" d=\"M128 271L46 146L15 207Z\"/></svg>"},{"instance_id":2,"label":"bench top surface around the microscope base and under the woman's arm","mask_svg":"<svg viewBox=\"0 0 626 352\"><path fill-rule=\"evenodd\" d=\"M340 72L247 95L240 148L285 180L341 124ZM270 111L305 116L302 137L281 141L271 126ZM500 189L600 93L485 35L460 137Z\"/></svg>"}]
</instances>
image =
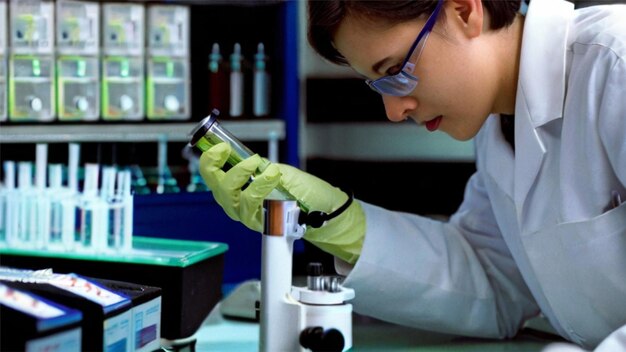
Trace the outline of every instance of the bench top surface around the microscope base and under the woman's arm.
<instances>
[{"instance_id":1,"label":"bench top surface around the microscope base and under the woman's arm","mask_svg":"<svg viewBox=\"0 0 626 352\"><path fill-rule=\"evenodd\" d=\"M224 318L218 303L194 334L195 351L247 352L259 350L259 323ZM523 330L510 340L455 337L416 330L353 315L351 351L541 351L548 344L561 341L540 332ZM189 350L191 351L191 350Z\"/></svg>"}]
</instances>

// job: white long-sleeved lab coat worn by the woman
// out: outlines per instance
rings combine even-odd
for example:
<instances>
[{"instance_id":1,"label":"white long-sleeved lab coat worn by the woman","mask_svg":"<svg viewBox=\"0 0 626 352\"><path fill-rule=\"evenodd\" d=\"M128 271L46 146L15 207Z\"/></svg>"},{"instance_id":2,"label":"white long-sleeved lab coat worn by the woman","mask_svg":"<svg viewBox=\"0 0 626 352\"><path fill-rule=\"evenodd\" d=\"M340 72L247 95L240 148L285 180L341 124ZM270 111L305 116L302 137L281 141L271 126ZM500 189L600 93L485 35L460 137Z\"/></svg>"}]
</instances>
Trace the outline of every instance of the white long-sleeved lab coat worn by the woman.
<instances>
[{"instance_id":1,"label":"white long-sleeved lab coat worn by the woman","mask_svg":"<svg viewBox=\"0 0 626 352\"><path fill-rule=\"evenodd\" d=\"M610 206L612 192L626 200L626 6L613 6L531 2L515 155L491 116L449 222L363 203L345 281L356 311L483 337L542 312L587 348L626 325L626 202Z\"/></svg>"}]
</instances>

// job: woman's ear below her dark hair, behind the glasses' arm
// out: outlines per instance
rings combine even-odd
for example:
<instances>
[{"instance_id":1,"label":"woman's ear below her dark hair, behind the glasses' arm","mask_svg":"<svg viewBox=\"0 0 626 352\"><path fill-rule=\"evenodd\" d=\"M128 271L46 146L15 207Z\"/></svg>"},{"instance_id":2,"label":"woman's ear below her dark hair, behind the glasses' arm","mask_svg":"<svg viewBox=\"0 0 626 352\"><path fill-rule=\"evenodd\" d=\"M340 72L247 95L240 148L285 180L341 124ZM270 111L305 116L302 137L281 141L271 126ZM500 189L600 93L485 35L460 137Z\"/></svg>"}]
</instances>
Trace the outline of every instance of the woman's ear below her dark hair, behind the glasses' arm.
<instances>
[{"instance_id":1,"label":"woman's ear below her dark hair, behind the glasses' arm","mask_svg":"<svg viewBox=\"0 0 626 352\"><path fill-rule=\"evenodd\" d=\"M467 38L475 38L482 33L482 0L448 0L445 12L448 24L461 30Z\"/></svg>"}]
</instances>

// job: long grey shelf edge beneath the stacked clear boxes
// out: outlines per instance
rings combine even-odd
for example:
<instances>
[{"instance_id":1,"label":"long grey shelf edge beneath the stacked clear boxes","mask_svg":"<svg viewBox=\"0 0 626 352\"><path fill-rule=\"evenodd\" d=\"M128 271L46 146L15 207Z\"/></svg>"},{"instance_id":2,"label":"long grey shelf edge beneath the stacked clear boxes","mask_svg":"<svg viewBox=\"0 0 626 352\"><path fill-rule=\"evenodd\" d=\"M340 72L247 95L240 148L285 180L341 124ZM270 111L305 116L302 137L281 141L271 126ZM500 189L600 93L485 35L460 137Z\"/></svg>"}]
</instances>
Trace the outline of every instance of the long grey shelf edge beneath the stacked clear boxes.
<instances>
[{"instance_id":1,"label":"long grey shelf edge beneath the stacked clear boxes","mask_svg":"<svg viewBox=\"0 0 626 352\"><path fill-rule=\"evenodd\" d=\"M285 121L278 119L220 121L243 141L278 141L285 138ZM0 143L63 142L186 142L196 122L54 124L0 126Z\"/></svg>"}]
</instances>

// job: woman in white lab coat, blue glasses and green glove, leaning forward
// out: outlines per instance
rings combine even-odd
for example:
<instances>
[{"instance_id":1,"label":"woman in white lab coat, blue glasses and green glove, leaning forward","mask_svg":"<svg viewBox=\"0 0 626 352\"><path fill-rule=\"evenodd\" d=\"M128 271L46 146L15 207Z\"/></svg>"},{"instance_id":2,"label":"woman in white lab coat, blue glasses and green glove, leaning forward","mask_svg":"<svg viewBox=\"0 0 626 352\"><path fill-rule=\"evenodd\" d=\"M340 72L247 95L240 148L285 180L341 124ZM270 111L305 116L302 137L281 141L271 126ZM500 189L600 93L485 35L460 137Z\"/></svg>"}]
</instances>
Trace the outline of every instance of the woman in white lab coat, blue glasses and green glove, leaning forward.
<instances>
[{"instance_id":1,"label":"woman in white lab coat, blue glasses and green glove, leaning forward","mask_svg":"<svg viewBox=\"0 0 626 352\"><path fill-rule=\"evenodd\" d=\"M337 214L345 193L286 165L241 191L260 159L224 173L225 146L204 153L202 174L253 229L278 182L329 213L305 238L338 258L358 312L497 338L542 313L595 348L626 325L626 6L541 0L504 19L511 9L496 10L480 0L309 2L313 47L369 79L391 121L474 138L477 171L449 221L349 200Z\"/></svg>"}]
</instances>

